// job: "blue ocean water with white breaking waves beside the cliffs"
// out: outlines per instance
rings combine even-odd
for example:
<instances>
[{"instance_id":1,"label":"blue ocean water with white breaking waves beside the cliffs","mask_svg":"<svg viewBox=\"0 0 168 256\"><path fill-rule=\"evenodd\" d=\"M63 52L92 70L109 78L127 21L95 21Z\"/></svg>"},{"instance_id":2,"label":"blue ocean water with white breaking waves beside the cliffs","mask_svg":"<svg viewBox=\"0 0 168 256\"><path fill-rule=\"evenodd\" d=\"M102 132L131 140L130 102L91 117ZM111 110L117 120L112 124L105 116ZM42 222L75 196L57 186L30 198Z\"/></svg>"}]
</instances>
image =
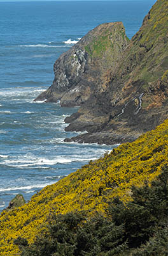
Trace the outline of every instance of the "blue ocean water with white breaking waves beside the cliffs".
<instances>
[{"instance_id":1,"label":"blue ocean water with white breaking waves beside the cliffs","mask_svg":"<svg viewBox=\"0 0 168 256\"><path fill-rule=\"evenodd\" d=\"M131 38L154 0L0 3L0 211L113 147L64 143L77 108L33 102L52 84L53 63L90 29L123 21ZM116 147L116 146L114 146Z\"/></svg>"}]
</instances>

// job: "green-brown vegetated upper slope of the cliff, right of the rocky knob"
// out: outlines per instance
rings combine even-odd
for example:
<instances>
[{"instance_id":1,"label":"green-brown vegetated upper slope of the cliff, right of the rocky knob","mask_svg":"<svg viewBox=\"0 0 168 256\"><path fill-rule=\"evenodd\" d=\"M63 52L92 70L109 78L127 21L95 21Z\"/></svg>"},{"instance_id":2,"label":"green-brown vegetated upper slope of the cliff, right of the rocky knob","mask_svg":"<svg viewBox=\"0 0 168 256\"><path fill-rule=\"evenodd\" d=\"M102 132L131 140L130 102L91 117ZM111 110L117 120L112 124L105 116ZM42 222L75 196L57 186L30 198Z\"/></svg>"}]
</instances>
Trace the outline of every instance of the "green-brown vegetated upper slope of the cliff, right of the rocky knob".
<instances>
[{"instance_id":1,"label":"green-brown vegetated upper slope of the cliff, right of the rocky knob","mask_svg":"<svg viewBox=\"0 0 168 256\"><path fill-rule=\"evenodd\" d=\"M112 71L111 86L115 87L120 81L123 99L134 90L145 92L143 109L153 108L155 111L167 99L167 27L168 2L158 0L144 17L143 26L132 37L129 47L123 51L119 65Z\"/></svg>"}]
</instances>

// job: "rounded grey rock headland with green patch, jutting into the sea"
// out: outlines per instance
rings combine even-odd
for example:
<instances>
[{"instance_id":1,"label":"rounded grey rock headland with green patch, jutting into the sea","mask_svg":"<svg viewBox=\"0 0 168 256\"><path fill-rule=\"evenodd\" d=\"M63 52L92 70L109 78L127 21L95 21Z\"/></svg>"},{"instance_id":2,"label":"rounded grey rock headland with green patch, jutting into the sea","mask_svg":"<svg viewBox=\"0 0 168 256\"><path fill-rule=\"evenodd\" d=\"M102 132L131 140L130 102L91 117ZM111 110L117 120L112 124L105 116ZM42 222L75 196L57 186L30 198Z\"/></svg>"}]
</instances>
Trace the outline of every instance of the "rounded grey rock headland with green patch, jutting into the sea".
<instances>
[{"instance_id":1,"label":"rounded grey rock headland with green patch, jutting into the sea","mask_svg":"<svg viewBox=\"0 0 168 256\"><path fill-rule=\"evenodd\" d=\"M104 72L115 66L128 43L122 22L97 26L55 61L53 84L36 100L60 100L61 106L81 106L93 94L104 92Z\"/></svg>"}]
</instances>

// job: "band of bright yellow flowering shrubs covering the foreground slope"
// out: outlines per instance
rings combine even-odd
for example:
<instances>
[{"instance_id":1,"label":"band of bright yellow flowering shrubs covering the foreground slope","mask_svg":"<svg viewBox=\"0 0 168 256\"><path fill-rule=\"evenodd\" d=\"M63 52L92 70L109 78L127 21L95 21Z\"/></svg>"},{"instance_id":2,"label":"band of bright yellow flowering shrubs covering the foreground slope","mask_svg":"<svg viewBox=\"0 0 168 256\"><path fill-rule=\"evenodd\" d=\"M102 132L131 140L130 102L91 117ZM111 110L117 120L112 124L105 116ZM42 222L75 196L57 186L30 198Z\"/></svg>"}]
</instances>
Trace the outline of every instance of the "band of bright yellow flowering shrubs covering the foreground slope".
<instances>
[{"instance_id":1,"label":"band of bright yellow flowering shrubs covering the foreground slope","mask_svg":"<svg viewBox=\"0 0 168 256\"><path fill-rule=\"evenodd\" d=\"M47 234L45 224L50 222L50 216L77 210L84 211L89 218L96 212L106 216L109 202L117 196L123 204L132 202L132 186L139 189L150 186L160 173L167 170L167 155L168 120L165 120L136 141L120 145L104 157L90 161L80 170L42 189L24 206L10 212L3 211L0 255L19 255L18 247L13 244L17 237L33 243L40 232Z\"/></svg>"}]
</instances>

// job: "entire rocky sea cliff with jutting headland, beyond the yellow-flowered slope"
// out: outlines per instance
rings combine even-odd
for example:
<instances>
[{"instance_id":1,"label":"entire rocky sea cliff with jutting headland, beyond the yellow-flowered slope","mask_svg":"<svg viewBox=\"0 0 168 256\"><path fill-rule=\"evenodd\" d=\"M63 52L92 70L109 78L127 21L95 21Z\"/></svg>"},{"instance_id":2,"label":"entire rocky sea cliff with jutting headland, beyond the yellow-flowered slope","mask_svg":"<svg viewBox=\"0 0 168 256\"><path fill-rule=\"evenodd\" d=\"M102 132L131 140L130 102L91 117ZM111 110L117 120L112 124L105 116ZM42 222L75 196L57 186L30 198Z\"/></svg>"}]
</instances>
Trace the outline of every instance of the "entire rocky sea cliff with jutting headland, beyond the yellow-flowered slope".
<instances>
[{"instance_id":1,"label":"entire rocky sea cliff with jutting headland, beyond the yellow-flowered slope","mask_svg":"<svg viewBox=\"0 0 168 256\"><path fill-rule=\"evenodd\" d=\"M121 22L102 24L55 62L52 86L37 98L81 106L66 141L122 143L162 123L168 114L168 2L158 0L128 40Z\"/></svg>"}]
</instances>

